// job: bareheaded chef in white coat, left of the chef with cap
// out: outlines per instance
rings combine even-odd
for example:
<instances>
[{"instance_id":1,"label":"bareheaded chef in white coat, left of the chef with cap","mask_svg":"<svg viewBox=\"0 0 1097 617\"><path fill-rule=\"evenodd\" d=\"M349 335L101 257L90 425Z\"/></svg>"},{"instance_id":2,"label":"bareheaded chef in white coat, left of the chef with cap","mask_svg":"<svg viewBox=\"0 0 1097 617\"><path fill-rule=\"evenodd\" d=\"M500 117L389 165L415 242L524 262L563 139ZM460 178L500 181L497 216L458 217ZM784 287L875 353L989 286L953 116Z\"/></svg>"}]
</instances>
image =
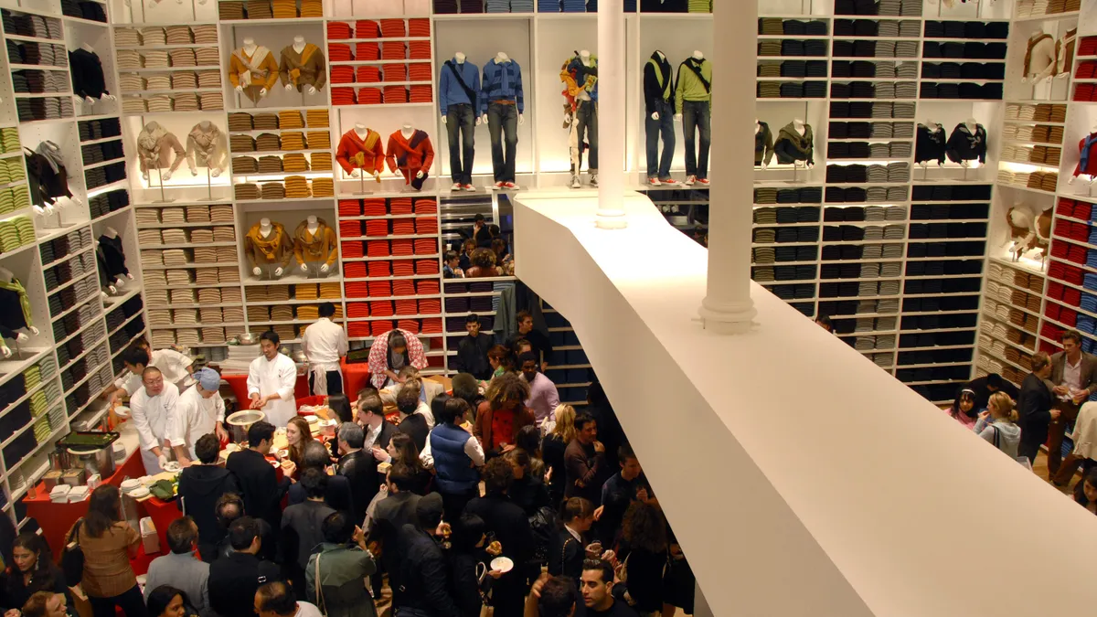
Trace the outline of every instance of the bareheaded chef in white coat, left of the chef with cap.
<instances>
[{"instance_id":1,"label":"bareheaded chef in white coat, left of the chef with cap","mask_svg":"<svg viewBox=\"0 0 1097 617\"><path fill-rule=\"evenodd\" d=\"M140 438L140 458L145 473L155 475L163 471L171 453L168 427L178 420L179 389L163 379L156 367L142 371L143 388L129 399L129 413Z\"/></svg>"}]
</instances>

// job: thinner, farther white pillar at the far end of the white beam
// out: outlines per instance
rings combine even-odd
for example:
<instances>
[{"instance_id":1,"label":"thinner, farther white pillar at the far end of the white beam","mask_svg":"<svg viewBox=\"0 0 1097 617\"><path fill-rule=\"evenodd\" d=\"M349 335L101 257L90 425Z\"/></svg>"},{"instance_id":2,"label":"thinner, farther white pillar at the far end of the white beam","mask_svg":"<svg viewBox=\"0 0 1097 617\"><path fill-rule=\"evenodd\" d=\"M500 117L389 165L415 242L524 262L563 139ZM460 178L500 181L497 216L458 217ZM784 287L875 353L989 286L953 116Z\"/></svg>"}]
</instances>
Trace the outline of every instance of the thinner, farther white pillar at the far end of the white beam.
<instances>
[{"instance_id":1,"label":"thinner, farther white pillar at the far end of the white beam","mask_svg":"<svg viewBox=\"0 0 1097 617\"><path fill-rule=\"evenodd\" d=\"M624 210L624 5L598 7L598 226L627 225ZM753 77L751 77L753 79Z\"/></svg>"}]
</instances>

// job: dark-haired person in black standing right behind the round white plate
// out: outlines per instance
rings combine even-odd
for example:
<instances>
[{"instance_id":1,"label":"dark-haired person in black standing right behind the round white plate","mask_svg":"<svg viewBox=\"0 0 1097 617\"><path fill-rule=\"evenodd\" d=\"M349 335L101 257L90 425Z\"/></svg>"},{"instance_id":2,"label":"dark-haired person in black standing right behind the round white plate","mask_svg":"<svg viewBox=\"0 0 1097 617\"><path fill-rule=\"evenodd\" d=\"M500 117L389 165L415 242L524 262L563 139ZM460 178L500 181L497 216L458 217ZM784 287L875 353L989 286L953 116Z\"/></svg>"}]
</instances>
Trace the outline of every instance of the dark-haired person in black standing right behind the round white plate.
<instances>
[{"instance_id":1,"label":"dark-haired person in black standing right behind the round white plate","mask_svg":"<svg viewBox=\"0 0 1097 617\"><path fill-rule=\"evenodd\" d=\"M514 562L514 568L493 584L491 597L498 617L521 617L525 598L525 580L536 575L540 564L533 561L533 530L521 506L510 501L507 491L514 481L514 470L504 457L488 461L484 467L485 496L468 502L465 512L484 519L487 532L502 545L502 554Z\"/></svg>"}]
</instances>

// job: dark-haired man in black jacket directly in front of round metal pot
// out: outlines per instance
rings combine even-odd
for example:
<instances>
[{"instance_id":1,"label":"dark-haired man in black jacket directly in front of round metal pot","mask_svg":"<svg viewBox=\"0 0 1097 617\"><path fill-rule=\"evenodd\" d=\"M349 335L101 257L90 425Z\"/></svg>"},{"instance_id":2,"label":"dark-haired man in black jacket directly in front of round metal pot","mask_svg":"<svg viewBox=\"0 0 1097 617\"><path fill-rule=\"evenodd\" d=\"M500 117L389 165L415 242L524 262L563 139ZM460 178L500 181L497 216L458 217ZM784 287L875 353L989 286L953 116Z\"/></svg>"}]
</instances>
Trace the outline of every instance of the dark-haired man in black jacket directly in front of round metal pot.
<instances>
[{"instance_id":1,"label":"dark-haired man in black jacket directly in front of round metal pot","mask_svg":"<svg viewBox=\"0 0 1097 617\"><path fill-rule=\"evenodd\" d=\"M248 429L248 447L228 456L225 469L231 471L244 490L244 512L262 518L272 529L282 528L282 496L290 479L279 482L274 468L267 461L274 440L274 425L260 420ZM255 591L255 590L252 590Z\"/></svg>"}]
</instances>

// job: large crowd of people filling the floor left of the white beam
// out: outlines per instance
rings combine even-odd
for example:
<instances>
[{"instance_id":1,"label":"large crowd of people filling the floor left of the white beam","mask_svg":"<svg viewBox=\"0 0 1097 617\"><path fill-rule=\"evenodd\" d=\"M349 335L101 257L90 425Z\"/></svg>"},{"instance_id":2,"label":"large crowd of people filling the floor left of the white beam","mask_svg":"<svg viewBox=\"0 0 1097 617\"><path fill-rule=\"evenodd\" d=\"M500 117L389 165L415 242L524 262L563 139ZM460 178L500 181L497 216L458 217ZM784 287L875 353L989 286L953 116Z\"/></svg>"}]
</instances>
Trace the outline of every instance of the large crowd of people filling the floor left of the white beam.
<instances>
[{"instance_id":1,"label":"large crowd of people filling the floor left of the white beam","mask_svg":"<svg viewBox=\"0 0 1097 617\"><path fill-rule=\"evenodd\" d=\"M183 464L170 552L143 590L140 535L120 490L100 485L64 556L15 538L4 617L71 616L84 597L94 617L519 617L553 598L574 605L561 615L691 613L692 572L604 392L591 384L581 411L561 404L531 325L520 313L518 334L494 345L471 316L451 392L419 374L414 334L378 337L370 385L329 396L333 438L275 413L227 459L219 375L185 368L180 393L152 358L127 355L146 469ZM265 411L292 391L276 335L261 343L249 394Z\"/></svg>"}]
</instances>

